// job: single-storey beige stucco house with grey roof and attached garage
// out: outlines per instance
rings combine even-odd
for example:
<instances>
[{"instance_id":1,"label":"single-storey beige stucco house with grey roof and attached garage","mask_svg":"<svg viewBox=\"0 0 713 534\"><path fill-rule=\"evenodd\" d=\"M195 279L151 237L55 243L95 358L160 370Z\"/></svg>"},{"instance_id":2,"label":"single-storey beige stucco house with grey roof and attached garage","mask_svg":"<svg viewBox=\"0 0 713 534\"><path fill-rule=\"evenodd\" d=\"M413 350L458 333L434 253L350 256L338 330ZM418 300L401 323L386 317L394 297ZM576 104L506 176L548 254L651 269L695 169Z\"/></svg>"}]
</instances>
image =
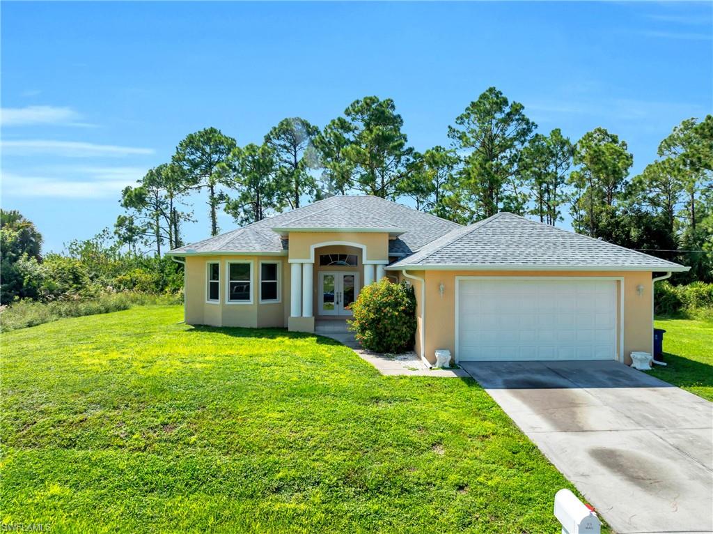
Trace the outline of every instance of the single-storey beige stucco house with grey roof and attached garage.
<instances>
[{"instance_id":1,"label":"single-storey beige stucco house with grey roof and attached garage","mask_svg":"<svg viewBox=\"0 0 713 534\"><path fill-rule=\"evenodd\" d=\"M185 258L189 324L314 332L349 318L365 285L407 281L416 352L431 363L436 349L456 362L629 363L652 352L654 282L688 269L512 213L461 226L373 196L333 196L169 254Z\"/></svg>"}]
</instances>

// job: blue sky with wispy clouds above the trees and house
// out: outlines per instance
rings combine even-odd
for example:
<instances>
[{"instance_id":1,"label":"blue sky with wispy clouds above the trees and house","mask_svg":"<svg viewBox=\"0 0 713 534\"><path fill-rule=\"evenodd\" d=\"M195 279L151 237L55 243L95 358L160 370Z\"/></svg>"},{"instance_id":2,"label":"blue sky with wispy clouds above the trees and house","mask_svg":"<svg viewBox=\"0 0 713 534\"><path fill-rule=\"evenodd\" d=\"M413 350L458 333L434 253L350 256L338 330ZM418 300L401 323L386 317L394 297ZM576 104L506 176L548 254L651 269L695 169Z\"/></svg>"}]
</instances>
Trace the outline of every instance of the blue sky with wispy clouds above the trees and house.
<instances>
[{"instance_id":1,"label":"blue sky with wispy clouds above the trees and house","mask_svg":"<svg viewBox=\"0 0 713 534\"><path fill-rule=\"evenodd\" d=\"M286 116L324 126L374 94L424 150L488 86L545 133L619 134L640 171L713 109L712 6L3 2L2 206L58 251L113 226L121 188L192 131L260 142ZM191 201L196 241L210 226Z\"/></svg>"}]
</instances>

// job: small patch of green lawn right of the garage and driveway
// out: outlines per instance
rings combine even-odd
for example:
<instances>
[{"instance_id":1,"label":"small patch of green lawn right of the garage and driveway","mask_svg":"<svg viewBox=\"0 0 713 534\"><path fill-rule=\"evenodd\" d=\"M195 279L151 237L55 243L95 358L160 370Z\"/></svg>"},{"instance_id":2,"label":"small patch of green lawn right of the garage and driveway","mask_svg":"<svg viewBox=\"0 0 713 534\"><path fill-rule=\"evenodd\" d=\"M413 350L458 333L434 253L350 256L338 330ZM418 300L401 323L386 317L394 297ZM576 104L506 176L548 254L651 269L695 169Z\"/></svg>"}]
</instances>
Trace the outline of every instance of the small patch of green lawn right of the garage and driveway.
<instances>
[{"instance_id":1,"label":"small patch of green lawn right of the garage and driveway","mask_svg":"<svg viewBox=\"0 0 713 534\"><path fill-rule=\"evenodd\" d=\"M713 401L713 321L660 318L663 328L664 361L650 373L674 386Z\"/></svg>"}]
</instances>

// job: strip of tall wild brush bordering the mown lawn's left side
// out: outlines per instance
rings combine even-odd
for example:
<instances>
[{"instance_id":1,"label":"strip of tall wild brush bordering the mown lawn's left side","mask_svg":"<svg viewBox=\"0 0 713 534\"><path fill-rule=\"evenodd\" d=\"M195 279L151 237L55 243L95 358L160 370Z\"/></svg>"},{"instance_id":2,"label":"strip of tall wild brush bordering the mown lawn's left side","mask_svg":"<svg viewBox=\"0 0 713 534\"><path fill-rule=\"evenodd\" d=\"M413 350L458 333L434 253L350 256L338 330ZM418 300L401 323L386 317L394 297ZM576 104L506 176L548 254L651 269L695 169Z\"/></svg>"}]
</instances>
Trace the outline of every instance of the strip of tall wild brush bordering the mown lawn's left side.
<instances>
[{"instance_id":1,"label":"strip of tall wild brush bordering the mown lawn's left side","mask_svg":"<svg viewBox=\"0 0 713 534\"><path fill-rule=\"evenodd\" d=\"M57 321L66 317L109 313L111 311L127 310L132 306L178 304L181 301L180 295L148 295L129 291L102 293L96 298L67 298L46 303L24 299L16 301L10 306L0 307L0 330L8 332Z\"/></svg>"}]
</instances>

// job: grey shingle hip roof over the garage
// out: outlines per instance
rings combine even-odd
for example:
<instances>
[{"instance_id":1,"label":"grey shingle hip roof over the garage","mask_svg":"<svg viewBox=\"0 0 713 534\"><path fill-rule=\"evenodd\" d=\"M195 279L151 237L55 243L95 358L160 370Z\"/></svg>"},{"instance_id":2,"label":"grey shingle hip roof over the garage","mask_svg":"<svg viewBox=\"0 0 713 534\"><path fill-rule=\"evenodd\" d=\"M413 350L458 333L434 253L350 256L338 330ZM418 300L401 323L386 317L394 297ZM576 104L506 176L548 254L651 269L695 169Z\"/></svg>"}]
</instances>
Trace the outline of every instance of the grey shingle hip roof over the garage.
<instances>
[{"instance_id":1,"label":"grey shingle hip roof over the garage","mask_svg":"<svg viewBox=\"0 0 713 534\"><path fill-rule=\"evenodd\" d=\"M578 233L497 213L456 228L389 268L687 271L687 267Z\"/></svg>"}]
</instances>

